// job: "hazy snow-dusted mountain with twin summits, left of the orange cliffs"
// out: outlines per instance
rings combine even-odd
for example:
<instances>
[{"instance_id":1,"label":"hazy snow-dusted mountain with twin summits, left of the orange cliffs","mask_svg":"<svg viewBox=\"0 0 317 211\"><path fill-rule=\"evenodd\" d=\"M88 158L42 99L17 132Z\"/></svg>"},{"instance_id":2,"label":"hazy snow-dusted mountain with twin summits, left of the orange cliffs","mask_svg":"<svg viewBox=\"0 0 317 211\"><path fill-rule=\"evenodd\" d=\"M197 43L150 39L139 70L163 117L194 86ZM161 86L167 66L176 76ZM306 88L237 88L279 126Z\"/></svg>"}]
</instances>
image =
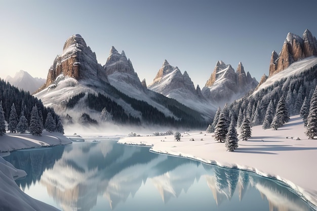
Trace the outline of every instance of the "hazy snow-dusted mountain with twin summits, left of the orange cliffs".
<instances>
[{"instance_id":1,"label":"hazy snow-dusted mountain with twin summits, left of the orange cliffs","mask_svg":"<svg viewBox=\"0 0 317 211\"><path fill-rule=\"evenodd\" d=\"M231 65L218 61L202 93L213 104L223 106L241 98L257 85L258 81L245 72L241 62L235 72Z\"/></svg>"}]
</instances>

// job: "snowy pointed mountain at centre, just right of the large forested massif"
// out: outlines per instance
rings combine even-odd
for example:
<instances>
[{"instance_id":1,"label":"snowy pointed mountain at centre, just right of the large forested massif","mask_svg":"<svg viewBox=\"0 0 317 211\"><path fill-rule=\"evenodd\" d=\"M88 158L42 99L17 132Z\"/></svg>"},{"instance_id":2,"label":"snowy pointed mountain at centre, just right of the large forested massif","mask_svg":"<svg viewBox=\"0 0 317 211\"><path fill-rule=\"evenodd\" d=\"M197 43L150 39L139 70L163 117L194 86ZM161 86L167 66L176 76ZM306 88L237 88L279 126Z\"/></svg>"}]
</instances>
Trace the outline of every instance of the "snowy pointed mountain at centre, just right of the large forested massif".
<instances>
[{"instance_id":1,"label":"snowy pointed mountain at centre, just right of the large forested massif","mask_svg":"<svg viewBox=\"0 0 317 211\"><path fill-rule=\"evenodd\" d=\"M188 73L185 71L182 74L178 67L173 67L167 60L147 88L204 113L206 119L216 111L216 107L203 96L200 87L195 89Z\"/></svg>"}]
</instances>

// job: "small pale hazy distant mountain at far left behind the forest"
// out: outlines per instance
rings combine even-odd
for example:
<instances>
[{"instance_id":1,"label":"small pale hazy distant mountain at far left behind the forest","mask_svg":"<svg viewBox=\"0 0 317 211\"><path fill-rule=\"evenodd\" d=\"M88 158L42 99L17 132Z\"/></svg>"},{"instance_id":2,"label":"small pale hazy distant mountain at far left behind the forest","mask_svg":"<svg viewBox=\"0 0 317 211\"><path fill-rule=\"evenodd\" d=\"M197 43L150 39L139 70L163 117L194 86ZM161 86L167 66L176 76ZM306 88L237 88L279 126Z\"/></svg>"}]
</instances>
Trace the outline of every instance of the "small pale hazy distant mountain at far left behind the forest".
<instances>
[{"instance_id":1,"label":"small pale hazy distant mountain at far left behind the forest","mask_svg":"<svg viewBox=\"0 0 317 211\"><path fill-rule=\"evenodd\" d=\"M31 94L45 83L44 78L32 77L24 70L16 72L14 77L8 75L6 77L6 81L19 89L28 91Z\"/></svg>"}]
</instances>

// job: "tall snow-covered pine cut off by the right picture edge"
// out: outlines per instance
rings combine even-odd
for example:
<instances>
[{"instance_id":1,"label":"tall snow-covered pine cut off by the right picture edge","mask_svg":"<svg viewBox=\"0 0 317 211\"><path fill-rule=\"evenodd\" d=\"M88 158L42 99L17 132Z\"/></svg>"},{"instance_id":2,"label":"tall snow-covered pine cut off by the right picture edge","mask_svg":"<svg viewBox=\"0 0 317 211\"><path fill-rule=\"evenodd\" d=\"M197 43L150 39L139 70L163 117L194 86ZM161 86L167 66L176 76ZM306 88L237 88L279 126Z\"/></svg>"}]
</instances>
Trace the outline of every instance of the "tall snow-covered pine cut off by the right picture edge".
<instances>
[{"instance_id":1,"label":"tall snow-covered pine cut off by the right picture edge","mask_svg":"<svg viewBox=\"0 0 317 211\"><path fill-rule=\"evenodd\" d=\"M309 112L307 116L306 135L309 139L317 136L317 86L310 99Z\"/></svg>"}]
</instances>

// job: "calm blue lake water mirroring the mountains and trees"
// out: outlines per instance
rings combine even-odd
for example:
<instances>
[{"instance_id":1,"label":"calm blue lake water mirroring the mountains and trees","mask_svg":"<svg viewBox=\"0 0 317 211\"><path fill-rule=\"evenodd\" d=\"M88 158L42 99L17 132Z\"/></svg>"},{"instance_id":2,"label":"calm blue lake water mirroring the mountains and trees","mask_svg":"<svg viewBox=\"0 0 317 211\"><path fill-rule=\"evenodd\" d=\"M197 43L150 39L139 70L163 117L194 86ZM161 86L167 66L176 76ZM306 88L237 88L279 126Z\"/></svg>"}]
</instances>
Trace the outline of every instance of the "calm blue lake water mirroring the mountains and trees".
<instances>
[{"instance_id":1,"label":"calm blue lake water mirroring the mountains and trees","mask_svg":"<svg viewBox=\"0 0 317 211\"><path fill-rule=\"evenodd\" d=\"M125 204L132 210L145 197L163 202L158 210L189 210L189 202L198 210L312 210L278 181L114 141L18 151L5 158L27 172L17 181L22 189L42 185L43 194L67 211L101 210L100 200L113 210L125 210ZM146 195L137 196L138 191Z\"/></svg>"}]
</instances>

